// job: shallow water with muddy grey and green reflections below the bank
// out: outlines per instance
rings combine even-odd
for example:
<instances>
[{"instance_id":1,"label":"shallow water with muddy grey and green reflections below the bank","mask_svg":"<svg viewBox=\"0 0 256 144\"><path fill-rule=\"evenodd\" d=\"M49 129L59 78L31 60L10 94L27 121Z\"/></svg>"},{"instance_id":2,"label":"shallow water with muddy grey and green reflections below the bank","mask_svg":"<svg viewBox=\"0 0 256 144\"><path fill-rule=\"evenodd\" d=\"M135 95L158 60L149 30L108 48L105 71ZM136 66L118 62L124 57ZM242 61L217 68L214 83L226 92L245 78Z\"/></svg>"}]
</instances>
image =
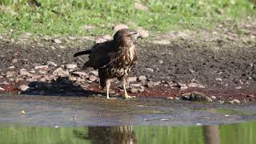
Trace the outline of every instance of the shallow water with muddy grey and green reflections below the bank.
<instances>
[{"instance_id":1,"label":"shallow water with muddy grey and green reflections below the bank","mask_svg":"<svg viewBox=\"0 0 256 144\"><path fill-rule=\"evenodd\" d=\"M256 143L255 106L123 102L1 98L0 144Z\"/></svg>"}]
</instances>

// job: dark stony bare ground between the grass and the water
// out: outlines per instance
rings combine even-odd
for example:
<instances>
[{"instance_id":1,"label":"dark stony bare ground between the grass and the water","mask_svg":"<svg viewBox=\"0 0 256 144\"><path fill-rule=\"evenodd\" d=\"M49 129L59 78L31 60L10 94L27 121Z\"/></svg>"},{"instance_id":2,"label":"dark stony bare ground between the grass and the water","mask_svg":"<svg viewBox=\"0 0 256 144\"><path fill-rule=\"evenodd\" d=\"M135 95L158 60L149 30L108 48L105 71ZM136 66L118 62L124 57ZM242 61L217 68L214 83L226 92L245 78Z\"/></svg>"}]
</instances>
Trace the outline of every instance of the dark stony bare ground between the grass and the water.
<instances>
[{"instance_id":1,"label":"dark stony bare ground between the grass and the water","mask_svg":"<svg viewBox=\"0 0 256 144\"><path fill-rule=\"evenodd\" d=\"M122 27L122 26L121 26ZM256 25L241 23L238 35L225 23L213 31L140 30L138 65L130 74L131 95L203 102L256 102ZM73 54L104 42L94 37L0 37L0 91L32 95L105 96L98 72L79 70ZM83 58L86 60L86 57ZM111 95L123 92L118 81Z\"/></svg>"}]
</instances>

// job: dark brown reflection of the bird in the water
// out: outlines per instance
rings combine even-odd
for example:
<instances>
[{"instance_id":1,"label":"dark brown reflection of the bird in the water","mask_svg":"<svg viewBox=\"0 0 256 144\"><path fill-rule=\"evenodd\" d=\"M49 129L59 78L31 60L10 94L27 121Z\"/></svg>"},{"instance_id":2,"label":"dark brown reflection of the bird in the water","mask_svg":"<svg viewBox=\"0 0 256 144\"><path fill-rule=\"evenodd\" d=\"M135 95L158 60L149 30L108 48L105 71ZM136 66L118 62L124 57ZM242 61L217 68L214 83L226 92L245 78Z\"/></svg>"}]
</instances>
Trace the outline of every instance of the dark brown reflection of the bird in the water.
<instances>
[{"instance_id":1,"label":"dark brown reflection of the bird in the water","mask_svg":"<svg viewBox=\"0 0 256 144\"><path fill-rule=\"evenodd\" d=\"M74 131L78 138L97 144L136 144L137 139L132 126L89 126L88 132Z\"/></svg>"}]
</instances>

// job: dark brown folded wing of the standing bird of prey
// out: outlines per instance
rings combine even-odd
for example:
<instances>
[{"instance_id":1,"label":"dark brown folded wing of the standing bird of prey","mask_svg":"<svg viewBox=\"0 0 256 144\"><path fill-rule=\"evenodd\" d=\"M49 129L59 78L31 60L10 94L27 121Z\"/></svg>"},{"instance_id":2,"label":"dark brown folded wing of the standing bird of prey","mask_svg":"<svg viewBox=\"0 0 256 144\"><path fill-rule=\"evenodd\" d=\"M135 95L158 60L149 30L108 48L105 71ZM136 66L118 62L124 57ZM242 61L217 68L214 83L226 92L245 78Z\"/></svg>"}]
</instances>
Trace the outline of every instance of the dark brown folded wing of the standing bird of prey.
<instances>
[{"instance_id":1,"label":"dark brown folded wing of the standing bird of prey","mask_svg":"<svg viewBox=\"0 0 256 144\"><path fill-rule=\"evenodd\" d=\"M94 69L106 67L114 60L117 53L118 50L111 41L96 44L91 49L89 56L90 65L94 67Z\"/></svg>"}]
</instances>

